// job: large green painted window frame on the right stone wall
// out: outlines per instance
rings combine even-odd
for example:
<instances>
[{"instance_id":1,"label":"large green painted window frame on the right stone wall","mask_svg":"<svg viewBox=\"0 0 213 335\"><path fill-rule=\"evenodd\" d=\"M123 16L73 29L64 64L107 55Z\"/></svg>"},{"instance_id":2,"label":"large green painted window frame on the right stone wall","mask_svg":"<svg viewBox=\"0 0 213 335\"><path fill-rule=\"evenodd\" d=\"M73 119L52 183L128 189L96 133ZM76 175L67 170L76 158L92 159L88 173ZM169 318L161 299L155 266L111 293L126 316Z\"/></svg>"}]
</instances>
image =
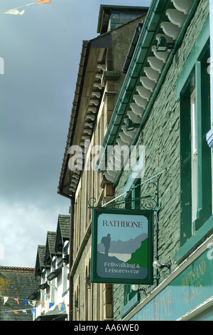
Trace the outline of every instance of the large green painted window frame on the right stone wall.
<instances>
[{"instance_id":1,"label":"large green painted window frame on the right stone wall","mask_svg":"<svg viewBox=\"0 0 213 335\"><path fill-rule=\"evenodd\" d=\"M180 100L180 250L176 262L182 260L204 237L212 216L211 149L206 134L211 125L209 58L209 19L198 36L182 68L176 85ZM192 222L191 120L190 96L196 90L197 135L197 219ZM201 229L202 228L202 229ZM202 233L201 233L202 232Z\"/></svg>"}]
</instances>

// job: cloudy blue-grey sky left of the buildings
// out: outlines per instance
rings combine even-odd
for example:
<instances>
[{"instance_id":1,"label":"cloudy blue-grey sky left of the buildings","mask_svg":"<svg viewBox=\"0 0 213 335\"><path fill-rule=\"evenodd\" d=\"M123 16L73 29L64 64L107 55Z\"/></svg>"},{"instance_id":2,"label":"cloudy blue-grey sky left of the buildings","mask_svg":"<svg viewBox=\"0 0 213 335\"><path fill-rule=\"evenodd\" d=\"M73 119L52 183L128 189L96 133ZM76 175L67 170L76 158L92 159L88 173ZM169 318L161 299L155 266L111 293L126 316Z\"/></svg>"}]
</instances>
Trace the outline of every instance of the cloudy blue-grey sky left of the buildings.
<instances>
[{"instance_id":1,"label":"cloudy blue-grey sky left of the buildings","mask_svg":"<svg viewBox=\"0 0 213 335\"><path fill-rule=\"evenodd\" d=\"M32 2L0 0L0 13ZM0 266L35 267L38 244L69 215L58 181L82 41L97 37L100 4L151 0L52 0L0 14Z\"/></svg>"}]
</instances>

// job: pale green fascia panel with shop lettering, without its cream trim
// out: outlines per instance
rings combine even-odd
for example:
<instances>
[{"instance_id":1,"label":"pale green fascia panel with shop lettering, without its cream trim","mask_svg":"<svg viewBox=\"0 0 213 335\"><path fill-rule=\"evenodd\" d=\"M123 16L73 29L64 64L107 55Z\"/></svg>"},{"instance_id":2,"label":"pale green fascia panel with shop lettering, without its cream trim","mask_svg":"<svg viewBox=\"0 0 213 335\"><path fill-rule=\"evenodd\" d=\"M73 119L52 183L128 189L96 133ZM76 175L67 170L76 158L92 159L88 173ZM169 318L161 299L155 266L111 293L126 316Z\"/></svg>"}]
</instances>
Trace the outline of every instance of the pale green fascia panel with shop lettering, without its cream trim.
<instances>
[{"instance_id":1,"label":"pale green fascia panel with shop lettering, without its cream trim","mask_svg":"<svg viewBox=\"0 0 213 335\"><path fill-rule=\"evenodd\" d=\"M213 248L203 252L130 320L175 321L212 296Z\"/></svg>"}]
</instances>

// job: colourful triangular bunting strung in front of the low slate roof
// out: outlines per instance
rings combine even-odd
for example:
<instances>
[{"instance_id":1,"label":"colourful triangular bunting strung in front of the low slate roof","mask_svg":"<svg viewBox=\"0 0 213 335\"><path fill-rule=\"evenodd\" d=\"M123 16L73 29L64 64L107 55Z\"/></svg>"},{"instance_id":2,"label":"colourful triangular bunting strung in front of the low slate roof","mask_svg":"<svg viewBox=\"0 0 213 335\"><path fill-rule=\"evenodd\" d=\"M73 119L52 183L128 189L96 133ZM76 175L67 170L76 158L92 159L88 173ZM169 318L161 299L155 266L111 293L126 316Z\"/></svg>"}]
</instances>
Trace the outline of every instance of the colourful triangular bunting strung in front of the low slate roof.
<instances>
[{"instance_id":1,"label":"colourful triangular bunting strung in front of the low slate roof","mask_svg":"<svg viewBox=\"0 0 213 335\"><path fill-rule=\"evenodd\" d=\"M27 303L33 307L35 307L36 302L39 302L41 304L40 311L43 314L43 312L45 311L45 301L40 301L40 300L29 300L29 299L21 299L21 298L14 298L14 297L6 297L6 296L0 296L3 297L4 299L4 304L6 304L6 302L8 301L8 299L13 299L17 302L17 304L19 305L19 301L22 300L25 304L25 306L27 305ZM65 309L65 304L59 303L56 304L58 306L58 309L62 312ZM53 304L53 302L49 302L49 309L51 307L55 306L55 304ZM67 304L67 306L69 307L69 305ZM29 309L14 309L14 310L9 310L9 311L0 311L0 313L6 313L8 314L9 312L13 312L15 314L18 314L18 311L22 311L23 313L27 313L28 310L31 310L31 313L33 314L35 312L35 308L29 308Z\"/></svg>"}]
</instances>

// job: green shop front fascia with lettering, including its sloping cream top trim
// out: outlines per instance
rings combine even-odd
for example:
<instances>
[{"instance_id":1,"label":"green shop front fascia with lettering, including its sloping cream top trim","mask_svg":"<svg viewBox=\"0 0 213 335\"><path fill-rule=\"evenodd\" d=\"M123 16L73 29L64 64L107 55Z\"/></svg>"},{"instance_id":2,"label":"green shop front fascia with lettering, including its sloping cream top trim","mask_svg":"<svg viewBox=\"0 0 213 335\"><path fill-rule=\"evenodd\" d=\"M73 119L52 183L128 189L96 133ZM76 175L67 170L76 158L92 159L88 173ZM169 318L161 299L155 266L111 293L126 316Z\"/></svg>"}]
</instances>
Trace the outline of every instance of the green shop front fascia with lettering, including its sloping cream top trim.
<instances>
[{"instance_id":1,"label":"green shop front fascia with lettering, including its sloping cream top trim","mask_svg":"<svg viewBox=\"0 0 213 335\"><path fill-rule=\"evenodd\" d=\"M152 294L138 294L121 311L124 321L213 321L213 237Z\"/></svg>"}]
</instances>

